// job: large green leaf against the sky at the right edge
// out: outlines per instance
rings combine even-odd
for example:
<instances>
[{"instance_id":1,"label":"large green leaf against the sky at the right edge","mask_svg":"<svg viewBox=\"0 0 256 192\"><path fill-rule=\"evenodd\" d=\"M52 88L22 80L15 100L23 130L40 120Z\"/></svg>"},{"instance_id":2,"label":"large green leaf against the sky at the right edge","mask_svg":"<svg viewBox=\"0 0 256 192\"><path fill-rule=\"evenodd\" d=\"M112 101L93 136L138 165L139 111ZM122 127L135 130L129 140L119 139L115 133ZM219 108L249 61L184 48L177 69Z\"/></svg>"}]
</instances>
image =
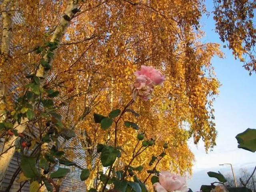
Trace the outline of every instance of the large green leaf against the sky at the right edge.
<instances>
[{"instance_id":1,"label":"large green leaf against the sky at the right edge","mask_svg":"<svg viewBox=\"0 0 256 192\"><path fill-rule=\"evenodd\" d=\"M256 151L256 129L246 129L236 136L236 140L238 142L238 148L251 152Z\"/></svg>"}]
</instances>

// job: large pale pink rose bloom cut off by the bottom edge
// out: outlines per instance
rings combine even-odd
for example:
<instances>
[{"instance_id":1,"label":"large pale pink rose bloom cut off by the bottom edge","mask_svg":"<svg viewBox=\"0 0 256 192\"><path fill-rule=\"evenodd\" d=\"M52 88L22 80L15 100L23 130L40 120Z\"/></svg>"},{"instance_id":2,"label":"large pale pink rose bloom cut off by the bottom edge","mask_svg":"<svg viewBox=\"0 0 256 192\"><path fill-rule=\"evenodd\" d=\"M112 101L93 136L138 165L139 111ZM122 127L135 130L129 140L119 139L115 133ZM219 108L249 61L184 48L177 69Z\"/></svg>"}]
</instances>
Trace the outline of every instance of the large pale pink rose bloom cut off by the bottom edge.
<instances>
[{"instance_id":1,"label":"large pale pink rose bloom cut off by the bottom edge","mask_svg":"<svg viewBox=\"0 0 256 192\"><path fill-rule=\"evenodd\" d=\"M159 188L159 191L155 187L157 192L165 192L160 188L159 185L162 186L167 192L173 192L173 191L180 191L180 192L187 192L188 188L186 187L186 181L181 176L176 176L171 174L168 171L163 171L159 173L159 182L156 184L156 187Z\"/></svg>"}]
</instances>

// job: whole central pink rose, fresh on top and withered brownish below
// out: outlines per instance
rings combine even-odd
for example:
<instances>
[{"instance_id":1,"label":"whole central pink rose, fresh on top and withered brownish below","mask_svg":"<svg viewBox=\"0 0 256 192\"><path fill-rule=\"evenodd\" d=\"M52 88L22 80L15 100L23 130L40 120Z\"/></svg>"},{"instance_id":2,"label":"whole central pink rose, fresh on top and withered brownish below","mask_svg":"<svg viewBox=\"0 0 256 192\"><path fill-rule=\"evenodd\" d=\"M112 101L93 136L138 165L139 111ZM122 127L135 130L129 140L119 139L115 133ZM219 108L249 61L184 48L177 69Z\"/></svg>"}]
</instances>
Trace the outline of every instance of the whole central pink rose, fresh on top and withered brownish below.
<instances>
[{"instance_id":1,"label":"whole central pink rose, fresh on top and withered brownish below","mask_svg":"<svg viewBox=\"0 0 256 192\"><path fill-rule=\"evenodd\" d=\"M136 80L134 84L130 85L134 100L137 96L141 97L144 101L151 99L154 86L161 84L165 80L164 76L151 66L141 66L141 70L136 71L134 75Z\"/></svg>"}]
</instances>

